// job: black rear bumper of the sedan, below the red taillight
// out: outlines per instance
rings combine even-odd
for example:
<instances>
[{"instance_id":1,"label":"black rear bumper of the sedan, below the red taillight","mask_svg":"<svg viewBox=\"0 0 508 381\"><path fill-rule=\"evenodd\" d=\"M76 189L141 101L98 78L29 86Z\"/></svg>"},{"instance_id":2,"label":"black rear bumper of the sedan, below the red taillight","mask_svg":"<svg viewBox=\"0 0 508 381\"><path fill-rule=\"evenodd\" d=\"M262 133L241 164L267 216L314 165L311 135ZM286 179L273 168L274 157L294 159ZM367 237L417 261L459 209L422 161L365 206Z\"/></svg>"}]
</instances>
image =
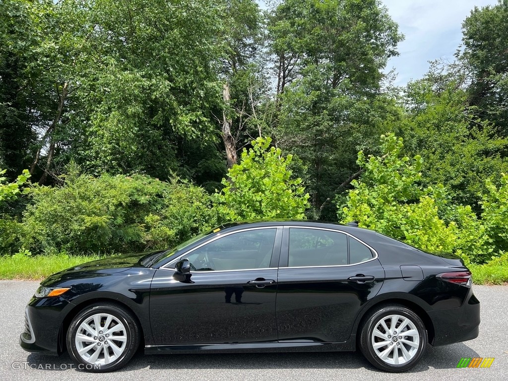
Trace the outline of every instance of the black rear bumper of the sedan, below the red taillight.
<instances>
[{"instance_id":1,"label":"black rear bumper of the sedan, below the red taillight","mask_svg":"<svg viewBox=\"0 0 508 381\"><path fill-rule=\"evenodd\" d=\"M478 337L480 301L472 291L459 308L428 311L434 325L434 346L453 344Z\"/></svg>"}]
</instances>

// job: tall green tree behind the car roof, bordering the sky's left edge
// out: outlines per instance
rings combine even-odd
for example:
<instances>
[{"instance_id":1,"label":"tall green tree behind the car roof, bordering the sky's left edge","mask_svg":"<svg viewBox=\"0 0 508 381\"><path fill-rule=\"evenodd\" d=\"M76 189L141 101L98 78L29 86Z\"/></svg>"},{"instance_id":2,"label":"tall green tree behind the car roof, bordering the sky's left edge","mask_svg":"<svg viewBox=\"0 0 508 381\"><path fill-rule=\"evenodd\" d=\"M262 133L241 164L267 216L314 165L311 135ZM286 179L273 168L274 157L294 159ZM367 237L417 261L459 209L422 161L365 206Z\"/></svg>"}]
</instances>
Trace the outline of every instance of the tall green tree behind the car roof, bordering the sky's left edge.
<instances>
[{"instance_id":1,"label":"tall green tree behind the car roof, bordering the sky's left edge","mask_svg":"<svg viewBox=\"0 0 508 381\"><path fill-rule=\"evenodd\" d=\"M379 85L402 36L376 0L287 0L268 28L275 143L301 158L312 214L330 219L328 202L357 176L356 152L379 136L378 118L386 114Z\"/></svg>"}]
</instances>

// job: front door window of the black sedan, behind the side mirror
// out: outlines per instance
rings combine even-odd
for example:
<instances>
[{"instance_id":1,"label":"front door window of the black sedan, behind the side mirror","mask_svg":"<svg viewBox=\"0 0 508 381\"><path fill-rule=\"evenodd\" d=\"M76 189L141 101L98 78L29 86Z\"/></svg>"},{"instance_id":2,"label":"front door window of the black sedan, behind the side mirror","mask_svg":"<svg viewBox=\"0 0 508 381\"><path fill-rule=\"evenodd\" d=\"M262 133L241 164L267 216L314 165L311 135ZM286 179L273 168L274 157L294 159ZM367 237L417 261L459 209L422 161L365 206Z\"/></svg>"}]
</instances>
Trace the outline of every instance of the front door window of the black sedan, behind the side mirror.
<instances>
[{"instance_id":1,"label":"front door window of the black sedan, behind the side mirror","mask_svg":"<svg viewBox=\"0 0 508 381\"><path fill-rule=\"evenodd\" d=\"M276 228L233 233L186 254L192 271L224 271L270 267Z\"/></svg>"}]
</instances>

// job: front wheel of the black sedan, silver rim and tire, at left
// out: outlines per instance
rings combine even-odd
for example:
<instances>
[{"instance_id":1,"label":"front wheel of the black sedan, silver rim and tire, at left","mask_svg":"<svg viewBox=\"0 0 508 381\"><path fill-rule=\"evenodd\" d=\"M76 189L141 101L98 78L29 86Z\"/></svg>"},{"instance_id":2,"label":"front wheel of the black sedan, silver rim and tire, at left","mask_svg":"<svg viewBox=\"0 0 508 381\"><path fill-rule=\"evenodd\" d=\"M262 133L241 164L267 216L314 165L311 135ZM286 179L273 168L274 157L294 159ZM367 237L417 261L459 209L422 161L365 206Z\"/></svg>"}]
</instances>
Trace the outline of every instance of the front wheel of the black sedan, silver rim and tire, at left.
<instances>
[{"instance_id":1,"label":"front wheel of the black sedan, silver rim and tire, at left","mask_svg":"<svg viewBox=\"0 0 508 381\"><path fill-rule=\"evenodd\" d=\"M96 329L98 325L102 329ZM86 307L74 317L67 332L69 354L78 369L89 372L121 368L136 353L139 341L140 330L132 313L113 303Z\"/></svg>"}]
</instances>

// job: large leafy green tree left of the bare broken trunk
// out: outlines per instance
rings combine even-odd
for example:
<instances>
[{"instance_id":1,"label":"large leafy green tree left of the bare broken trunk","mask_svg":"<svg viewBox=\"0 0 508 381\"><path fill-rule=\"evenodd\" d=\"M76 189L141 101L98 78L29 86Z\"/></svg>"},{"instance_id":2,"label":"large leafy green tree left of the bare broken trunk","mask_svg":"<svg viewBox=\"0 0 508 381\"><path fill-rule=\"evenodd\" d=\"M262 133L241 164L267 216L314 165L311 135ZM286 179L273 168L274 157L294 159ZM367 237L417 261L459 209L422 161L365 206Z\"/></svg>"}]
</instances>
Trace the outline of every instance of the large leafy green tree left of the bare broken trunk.
<instances>
[{"instance_id":1,"label":"large leafy green tree left of the bare broken trunk","mask_svg":"<svg viewBox=\"0 0 508 381\"><path fill-rule=\"evenodd\" d=\"M216 139L217 2L65 2L86 56L69 119L69 156L93 173L178 170L182 140ZM93 62L93 65L92 65ZM200 143L201 142L201 143Z\"/></svg>"}]
</instances>

